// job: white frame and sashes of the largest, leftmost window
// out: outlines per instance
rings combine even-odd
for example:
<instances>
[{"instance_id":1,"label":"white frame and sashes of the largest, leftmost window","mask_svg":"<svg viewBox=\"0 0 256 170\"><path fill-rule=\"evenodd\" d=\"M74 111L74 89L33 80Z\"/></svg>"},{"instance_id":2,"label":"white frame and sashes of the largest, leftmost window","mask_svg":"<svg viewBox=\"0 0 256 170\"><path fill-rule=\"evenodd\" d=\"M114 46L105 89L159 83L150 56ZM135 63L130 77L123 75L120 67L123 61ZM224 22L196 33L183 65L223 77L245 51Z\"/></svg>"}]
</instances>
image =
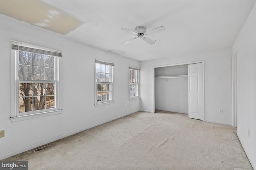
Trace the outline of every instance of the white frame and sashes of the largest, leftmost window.
<instances>
[{"instance_id":1,"label":"white frame and sashes of the largest, leftmost window","mask_svg":"<svg viewBox=\"0 0 256 170\"><path fill-rule=\"evenodd\" d=\"M44 47L39 47L36 45L30 45L28 43L22 43L19 41L13 41L10 40L11 45L13 46L14 44L18 45L23 45L24 47L30 47L30 48L35 48L36 50L45 50L45 51L56 51ZM24 51L24 50L21 50ZM61 52L59 51L60 55ZM41 53L42 54L42 53ZM31 119L35 117L43 117L47 115L55 115L55 114L60 114L61 113L61 105L60 105L60 57L54 56L54 68L55 68L55 73L54 77L55 80L20 80L19 75L18 75L18 70L19 70L19 63L18 63L18 55L19 55L19 50L18 49L13 49L11 50L11 121L21 121L21 120L26 120L26 119ZM46 54L44 54L46 55ZM44 66L44 68L48 68ZM45 76L45 74L44 74ZM49 108L49 109L41 109L41 110L36 110L36 111L28 111L28 112L22 112L20 113L20 106L19 106L19 93L20 93L20 83L29 83L29 82L44 82L44 83L54 83L54 108ZM34 94L32 95L34 96ZM47 96L44 94L43 96ZM46 100L45 100L46 102Z\"/></svg>"}]
</instances>

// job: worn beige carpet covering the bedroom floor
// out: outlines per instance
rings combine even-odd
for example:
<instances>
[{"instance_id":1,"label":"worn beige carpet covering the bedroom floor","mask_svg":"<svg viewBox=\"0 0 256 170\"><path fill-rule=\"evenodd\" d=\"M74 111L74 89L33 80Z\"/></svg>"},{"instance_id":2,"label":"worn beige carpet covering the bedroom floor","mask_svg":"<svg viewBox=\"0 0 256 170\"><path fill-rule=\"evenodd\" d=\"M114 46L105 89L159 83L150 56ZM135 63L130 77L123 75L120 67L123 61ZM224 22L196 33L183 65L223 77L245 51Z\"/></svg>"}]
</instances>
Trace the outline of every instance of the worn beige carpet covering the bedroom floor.
<instances>
[{"instance_id":1,"label":"worn beige carpet covering the bedroom floor","mask_svg":"<svg viewBox=\"0 0 256 170\"><path fill-rule=\"evenodd\" d=\"M29 170L252 170L236 128L157 111L88 129L5 160Z\"/></svg>"}]
</instances>

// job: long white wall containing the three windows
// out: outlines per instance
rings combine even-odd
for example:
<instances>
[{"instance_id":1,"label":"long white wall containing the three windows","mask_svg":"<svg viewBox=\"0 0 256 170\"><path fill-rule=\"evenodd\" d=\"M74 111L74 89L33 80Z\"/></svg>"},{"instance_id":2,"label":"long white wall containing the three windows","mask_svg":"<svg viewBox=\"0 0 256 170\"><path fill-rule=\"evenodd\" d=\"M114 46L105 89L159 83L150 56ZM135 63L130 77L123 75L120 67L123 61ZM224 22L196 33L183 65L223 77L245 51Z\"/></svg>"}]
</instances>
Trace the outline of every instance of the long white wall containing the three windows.
<instances>
[{"instance_id":1,"label":"long white wall containing the three windows","mask_svg":"<svg viewBox=\"0 0 256 170\"><path fill-rule=\"evenodd\" d=\"M128 83L129 66L139 67L138 61L67 40L62 35L1 14L0 21L0 130L5 130L5 137L0 138L0 160L140 109L140 100L129 101ZM10 121L12 80L9 39L62 51L62 114ZM94 106L95 58L115 63L115 104Z\"/></svg>"}]
</instances>

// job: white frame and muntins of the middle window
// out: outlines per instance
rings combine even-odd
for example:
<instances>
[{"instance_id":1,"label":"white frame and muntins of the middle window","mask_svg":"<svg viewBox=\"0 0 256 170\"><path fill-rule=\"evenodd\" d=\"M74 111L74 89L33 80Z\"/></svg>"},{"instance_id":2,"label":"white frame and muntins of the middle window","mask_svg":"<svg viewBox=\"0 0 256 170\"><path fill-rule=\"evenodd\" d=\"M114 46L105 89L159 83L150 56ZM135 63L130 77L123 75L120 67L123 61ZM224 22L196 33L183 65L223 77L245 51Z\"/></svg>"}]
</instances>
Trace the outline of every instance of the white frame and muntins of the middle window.
<instances>
[{"instance_id":1,"label":"white frame and muntins of the middle window","mask_svg":"<svg viewBox=\"0 0 256 170\"><path fill-rule=\"evenodd\" d=\"M100 64L100 66L105 65L105 66L109 66L109 73L107 72L96 72L97 69L97 64ZM103 73L103 74L109 74L109 81L97 81L97 73ZM95 82L95 90L94 90L94 95L95 95L95 100L94 100L94 106L98 107L98 106L104 106L104 105L108 105L108 104L114 104L114 63L110 63L107 61L102 61L102 60L98 60L95 59L95 63L94 63L94 82ZM110 100L105 100L105 101L98 101L98 83L106 83L109 84L109 88L108 88L108 92L109 92L109 96L111 96ZM100 91L103 92L103 91Z\"/></svg>"}]
</instances>

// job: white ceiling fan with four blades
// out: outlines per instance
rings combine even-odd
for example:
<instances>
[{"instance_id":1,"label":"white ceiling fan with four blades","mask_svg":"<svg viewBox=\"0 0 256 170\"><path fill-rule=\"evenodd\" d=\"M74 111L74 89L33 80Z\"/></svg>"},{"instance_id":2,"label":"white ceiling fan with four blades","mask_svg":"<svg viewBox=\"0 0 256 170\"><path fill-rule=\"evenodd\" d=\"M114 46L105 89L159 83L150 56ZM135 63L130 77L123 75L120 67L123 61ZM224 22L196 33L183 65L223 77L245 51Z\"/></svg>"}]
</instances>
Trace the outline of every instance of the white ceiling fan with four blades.
<instances>
[{"instance_id":1,"label":"white ceiling fan with four blades","mask_svg":"<svg viewBox=\"0 0 256 170\"><path fill-rule=\"evenodd\" d=\"M154 29L150 29L149 31L146 31L146 27L144 27L144 26L137 26L137 27L135 27L135 31L132 31L132 30L127 29L127 28L121 28L121 30L126 31L128 33L132 33L132 34L137 35L137 37L129 39L128 41L125 41L122 44L130 43L131 41L139 38L139 39L143 39L144 41L146 41L150 45L153 45L156 40L153 41L152 39L149 39L148 37L143 37L143 36L144 35L150 35L150 34L153 34L153 33L158 33L160 31L164 31L165 27L161 26L161 27L157 27L157 28L154 28Z\"/></svg>"}]
</instances>

